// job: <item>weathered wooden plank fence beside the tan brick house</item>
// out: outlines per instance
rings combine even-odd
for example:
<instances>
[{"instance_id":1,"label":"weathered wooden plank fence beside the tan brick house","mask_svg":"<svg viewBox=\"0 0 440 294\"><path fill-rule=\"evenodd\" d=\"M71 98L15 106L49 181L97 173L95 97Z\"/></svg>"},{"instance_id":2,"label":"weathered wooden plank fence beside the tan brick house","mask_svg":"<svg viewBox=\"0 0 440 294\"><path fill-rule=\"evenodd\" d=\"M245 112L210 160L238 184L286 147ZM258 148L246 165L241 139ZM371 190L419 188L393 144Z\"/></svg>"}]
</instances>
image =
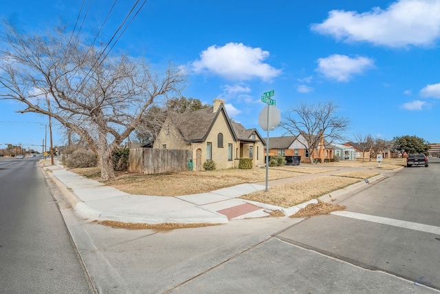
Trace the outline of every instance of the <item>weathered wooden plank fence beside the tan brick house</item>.
<instances>
[{"instance_id":1,"label":"weathered wooden plank fence beside the tan brick house","mask_svg":"<svg viewBox=\"0 0 440 294\"><path fill-rule=\"evenodd\" d=\"M163 174L172 171L188 171L192 150L180 149L130 149L129 171L142 174Z\"/></svg>"}]
</instances>

